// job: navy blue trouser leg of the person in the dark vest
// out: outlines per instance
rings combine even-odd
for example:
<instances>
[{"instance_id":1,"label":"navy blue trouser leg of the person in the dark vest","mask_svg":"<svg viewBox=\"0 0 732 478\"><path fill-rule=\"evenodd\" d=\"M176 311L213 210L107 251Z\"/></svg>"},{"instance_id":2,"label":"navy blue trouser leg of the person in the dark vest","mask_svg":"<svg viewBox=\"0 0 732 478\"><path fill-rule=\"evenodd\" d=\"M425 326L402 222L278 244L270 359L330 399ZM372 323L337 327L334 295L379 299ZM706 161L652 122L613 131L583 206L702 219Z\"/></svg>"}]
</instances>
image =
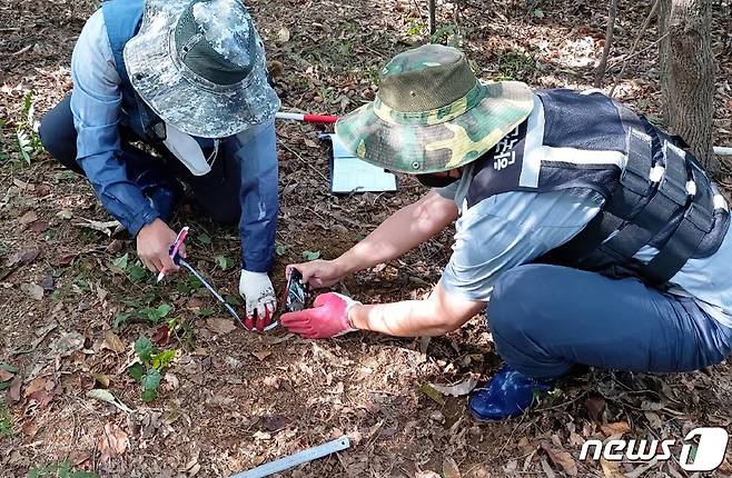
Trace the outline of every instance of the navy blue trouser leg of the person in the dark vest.
<instances>
[{"instance_id":1,"label":"navy blue trouser leg of the person in the dark vest","mask_svg":"<svg viewBox=\"0 0 732 478\"><path fill-rule=\"evenodd\" d=\"M505 272L487 307L497 352L535 378L575 365L645 372L696 370L732 351L732 329L691 299L636 279L527 265Z\"/></svg>"}]
</instances>

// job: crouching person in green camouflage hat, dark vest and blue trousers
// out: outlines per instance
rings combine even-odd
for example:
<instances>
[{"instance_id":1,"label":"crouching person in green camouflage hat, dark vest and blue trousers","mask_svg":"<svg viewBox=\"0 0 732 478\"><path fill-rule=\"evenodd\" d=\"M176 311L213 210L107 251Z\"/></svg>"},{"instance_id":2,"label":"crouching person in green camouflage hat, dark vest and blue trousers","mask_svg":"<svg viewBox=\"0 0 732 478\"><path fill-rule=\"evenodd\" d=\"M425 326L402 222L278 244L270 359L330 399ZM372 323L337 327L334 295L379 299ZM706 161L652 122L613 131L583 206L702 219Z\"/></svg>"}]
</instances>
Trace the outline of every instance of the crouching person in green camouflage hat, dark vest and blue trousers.
<instances>
[{"instance_id":1,"label":"crouching person in green camouflage hat, dark vest and blue trousers","mask_svg":"<svg viewBox=\"0 0 732 478\"><path fill-rule=\"evenodd\" d=\"M328 287L457 220L454 252L425 300L328 292L285 327L438 336L485 308L506 366L471 397L481 420L522 414L574 365L679 372L730 353L728 205L666 133L599 92L482 83L447 47L396 56L379 84L338 136L435 189L337 259L291 267Z\"/></svg>"}]
</instances>

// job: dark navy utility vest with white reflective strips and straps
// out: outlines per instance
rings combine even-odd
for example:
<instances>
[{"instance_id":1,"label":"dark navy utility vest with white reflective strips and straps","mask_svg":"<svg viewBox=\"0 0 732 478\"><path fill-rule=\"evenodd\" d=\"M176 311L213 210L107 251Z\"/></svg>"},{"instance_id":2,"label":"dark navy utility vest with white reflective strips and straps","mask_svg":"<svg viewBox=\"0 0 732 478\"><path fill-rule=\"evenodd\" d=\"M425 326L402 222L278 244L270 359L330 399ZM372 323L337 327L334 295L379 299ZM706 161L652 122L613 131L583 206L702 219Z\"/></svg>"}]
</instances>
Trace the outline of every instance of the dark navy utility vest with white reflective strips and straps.
<instances>
[{"instance_id":1,"label":"dark navy utility vest with white reflective strips and straps","mask_svg":"<svg viewBox=\"0 0 732 478\"><path fill-rule=\"evenodd\" d=\"M508 191L596 191L605 199L597 216L536 261L656 287L690 258L716 252L729 208L680 139L599 92L536 94L528 120L476 161L467 208ZM649 263L633 258L644 246L659 250Z\"/></svg>"}]
</instances>

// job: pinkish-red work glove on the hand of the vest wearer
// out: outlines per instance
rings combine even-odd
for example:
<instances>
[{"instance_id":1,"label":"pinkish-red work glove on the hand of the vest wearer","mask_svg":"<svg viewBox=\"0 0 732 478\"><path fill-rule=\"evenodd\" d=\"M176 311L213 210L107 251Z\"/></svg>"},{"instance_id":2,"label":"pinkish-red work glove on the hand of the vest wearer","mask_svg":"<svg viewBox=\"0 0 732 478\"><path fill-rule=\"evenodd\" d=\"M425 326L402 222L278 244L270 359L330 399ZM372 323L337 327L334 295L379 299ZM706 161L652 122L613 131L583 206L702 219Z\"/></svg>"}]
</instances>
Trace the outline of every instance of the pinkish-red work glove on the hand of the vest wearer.
<instances>
[{"instance_id":1,"label":"pinkish-red work glove on the hand of the vest wearer","mask_svg":"<svg viewBox=\"0 0 732 478\"><path fill-rule=\"evenodd\" d=\"M315 298L311 309L283 313L279 321L290 332L306 339L325 339L353 332L348 310L356 303L349 297L336 292L322 293Z\"/></svg>"}]
</instances>

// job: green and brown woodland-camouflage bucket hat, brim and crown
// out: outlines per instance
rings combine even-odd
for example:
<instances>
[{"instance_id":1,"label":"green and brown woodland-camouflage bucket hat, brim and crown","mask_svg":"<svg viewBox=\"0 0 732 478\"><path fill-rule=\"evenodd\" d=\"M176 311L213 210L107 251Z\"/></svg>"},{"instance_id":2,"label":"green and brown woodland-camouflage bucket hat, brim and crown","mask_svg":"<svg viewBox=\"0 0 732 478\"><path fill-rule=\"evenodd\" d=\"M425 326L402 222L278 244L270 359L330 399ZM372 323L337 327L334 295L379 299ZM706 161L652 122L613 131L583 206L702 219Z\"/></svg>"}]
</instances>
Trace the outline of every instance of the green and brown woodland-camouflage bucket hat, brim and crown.
<instances>
[{"instance_id":1,"label":"green and brown woodland-camouflage bucket hat, brim and crown","mask_svg":"<svg viewBox=\"0 0 732 478\"><path fill-rule=\"evenodd\" d=\"M476 160L533 107L526 84L484 84L459 50L426 44L394 57L376 100L342 118L336 133L367 162L424 175Z\"/></svg>"}]
</instances>

